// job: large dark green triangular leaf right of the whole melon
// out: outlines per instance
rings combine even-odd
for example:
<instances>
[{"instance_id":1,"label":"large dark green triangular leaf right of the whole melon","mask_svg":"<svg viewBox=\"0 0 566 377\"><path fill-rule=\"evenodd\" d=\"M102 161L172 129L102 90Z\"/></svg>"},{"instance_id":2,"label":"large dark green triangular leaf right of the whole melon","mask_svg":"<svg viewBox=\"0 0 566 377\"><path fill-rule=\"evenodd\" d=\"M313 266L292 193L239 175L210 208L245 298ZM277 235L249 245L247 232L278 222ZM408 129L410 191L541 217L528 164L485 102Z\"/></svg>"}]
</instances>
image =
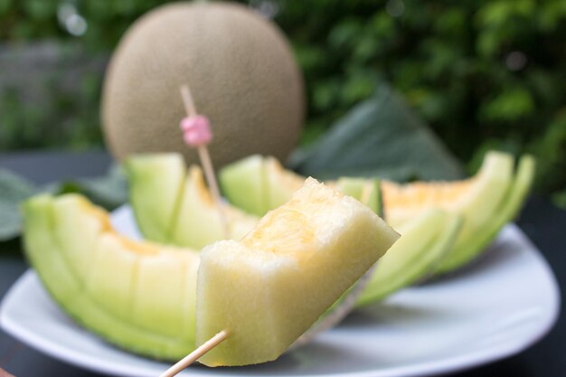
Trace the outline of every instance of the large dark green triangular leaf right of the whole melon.
<instances>
[{"instance_id":1,"label":"large dark green triangular leaf right of the whole melon","mask_svg":"<svg viewBox=\"0 0 566 377\"><path fill-rule=\"evenodd\" d=\"M395 181L459 179L462 167L388 86L353 108L289 165L320 179L373 176Z\"/></svg>"}]
</instances>

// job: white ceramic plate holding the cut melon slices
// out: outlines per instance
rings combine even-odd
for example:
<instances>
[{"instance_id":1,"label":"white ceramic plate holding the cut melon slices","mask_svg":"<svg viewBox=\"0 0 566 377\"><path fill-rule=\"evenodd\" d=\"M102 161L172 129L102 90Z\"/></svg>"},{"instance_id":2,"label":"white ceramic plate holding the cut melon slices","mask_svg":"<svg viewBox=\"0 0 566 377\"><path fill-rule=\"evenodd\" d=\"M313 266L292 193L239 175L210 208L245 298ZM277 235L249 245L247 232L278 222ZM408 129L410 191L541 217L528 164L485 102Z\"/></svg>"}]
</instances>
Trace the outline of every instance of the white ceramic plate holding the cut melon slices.
<instances>
[{"instance_id":1,"label":"white ceramic plate holding the cut melon slices","mask_svg":"<svg viewBox=\"0 0 566 377\"><path fill-rule=\"evenodd\" d=\"M115 213L133 234L131 213ZM545 260L514 225L476 263L450 277L411 287L349 316L315 341L250 367L180 376L421 376L452 372L518 353L556 320L559 292ZM96 372L155 377L168 367L120 351L75 325L28 271L0 308L5 331L44 353Z\"/></svg>"}]
</instances>

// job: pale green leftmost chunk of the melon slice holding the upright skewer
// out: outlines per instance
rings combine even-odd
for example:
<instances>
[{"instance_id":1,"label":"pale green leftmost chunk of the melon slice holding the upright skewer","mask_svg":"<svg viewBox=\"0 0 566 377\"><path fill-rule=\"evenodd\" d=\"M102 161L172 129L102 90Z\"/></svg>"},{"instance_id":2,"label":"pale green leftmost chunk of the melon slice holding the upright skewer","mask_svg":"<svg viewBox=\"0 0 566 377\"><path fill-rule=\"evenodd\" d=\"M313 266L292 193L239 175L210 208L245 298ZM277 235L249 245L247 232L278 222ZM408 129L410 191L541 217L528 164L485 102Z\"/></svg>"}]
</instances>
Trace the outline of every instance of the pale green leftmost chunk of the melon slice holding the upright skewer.
<instances>
[{"instance_id":1,"label":"pale green leftmost chunk of the melon slice holding the upright skewer","mask_svg":"<svg viewBox=\"0 0 566 377\"><path fill-rule=\"evenodd\" d=\"M168 243L183 193L183 156L175 153L137 155L124 163L129 201L146 240Z\"/></svg>"}]
</instances>

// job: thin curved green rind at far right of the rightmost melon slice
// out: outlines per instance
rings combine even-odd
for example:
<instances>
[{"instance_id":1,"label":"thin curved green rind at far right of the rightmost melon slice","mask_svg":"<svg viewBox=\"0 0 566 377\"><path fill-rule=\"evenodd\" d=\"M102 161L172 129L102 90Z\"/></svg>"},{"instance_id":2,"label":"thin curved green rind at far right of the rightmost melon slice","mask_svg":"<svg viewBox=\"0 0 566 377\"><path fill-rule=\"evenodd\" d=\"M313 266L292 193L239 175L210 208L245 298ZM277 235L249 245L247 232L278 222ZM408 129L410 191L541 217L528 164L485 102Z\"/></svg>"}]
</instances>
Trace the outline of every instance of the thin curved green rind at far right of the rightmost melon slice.
<instances>
[{"instance_id":1,"label":"thin curved green rind at far right of the rightmost melon slice","mask_svg":"<svg viewBox=\"0 0 566 377\"><path fill-rule=\"evenodd\" d=\"M476 232L473 241L470 241L466 247L458 250L458 254L455 254L458 258L446 260L440 266L438 273L448 273L475 259L495 239L495 236L505 224L517 216L533 185L534 170L535 161L533 156L522 156L514 174L513 183L505 193L503 203L500 203L495 208L492 220L487 221L486 225Z\"/></svg>"}]
</instances>

